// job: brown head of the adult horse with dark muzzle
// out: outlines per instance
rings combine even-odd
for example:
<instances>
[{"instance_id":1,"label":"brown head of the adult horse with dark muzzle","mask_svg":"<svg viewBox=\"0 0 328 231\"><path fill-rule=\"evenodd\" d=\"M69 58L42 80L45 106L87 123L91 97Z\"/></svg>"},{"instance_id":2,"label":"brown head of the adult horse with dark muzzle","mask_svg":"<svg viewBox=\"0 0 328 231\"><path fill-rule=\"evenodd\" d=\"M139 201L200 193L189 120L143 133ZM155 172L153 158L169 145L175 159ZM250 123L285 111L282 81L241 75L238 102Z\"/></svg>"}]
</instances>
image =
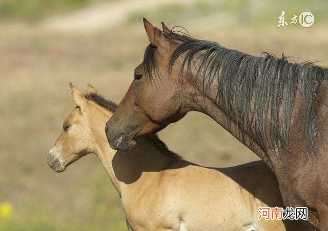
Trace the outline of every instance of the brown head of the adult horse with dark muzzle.
<instances>
[{"instance_id":1,"label":"brown head of the adult horse with dark muzzle","mask_svg":"<svg viewBox=\"0 0 328 231\"><path fill-rule=\"evenodd\" d=\"M163 23L163 31L146 19L144 25L151 44L105 129L111 147L116 150L129 149L136 138L165 128L190 110L186 107L190 87L186 83L182 86L180 59L170 65L171 55L182 41L174 39L172 36L176 34Z\"/></svg>"}]
</instances>

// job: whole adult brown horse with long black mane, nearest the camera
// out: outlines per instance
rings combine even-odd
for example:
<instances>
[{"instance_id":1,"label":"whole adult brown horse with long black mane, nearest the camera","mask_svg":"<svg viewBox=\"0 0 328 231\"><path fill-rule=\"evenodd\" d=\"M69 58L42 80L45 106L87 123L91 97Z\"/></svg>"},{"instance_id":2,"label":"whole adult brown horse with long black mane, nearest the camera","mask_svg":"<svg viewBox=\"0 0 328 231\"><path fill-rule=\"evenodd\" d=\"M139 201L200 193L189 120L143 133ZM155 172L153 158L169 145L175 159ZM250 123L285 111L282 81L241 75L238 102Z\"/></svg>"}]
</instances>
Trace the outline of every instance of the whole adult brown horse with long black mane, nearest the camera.
<instances>
[{"instance_id":1,"label":"whole adult brown horse with long black mane, nearest the camera","mask_svg":"<svg viewBox=\"0 0 328 231\"><path fill-rule=\"evenodd\" d=\"M151 44L105 128L111 147L203 112L268 164L286 206L308 207L309 223L328 230L328 70L144 25Z\"/></svg>"}]
</instances>

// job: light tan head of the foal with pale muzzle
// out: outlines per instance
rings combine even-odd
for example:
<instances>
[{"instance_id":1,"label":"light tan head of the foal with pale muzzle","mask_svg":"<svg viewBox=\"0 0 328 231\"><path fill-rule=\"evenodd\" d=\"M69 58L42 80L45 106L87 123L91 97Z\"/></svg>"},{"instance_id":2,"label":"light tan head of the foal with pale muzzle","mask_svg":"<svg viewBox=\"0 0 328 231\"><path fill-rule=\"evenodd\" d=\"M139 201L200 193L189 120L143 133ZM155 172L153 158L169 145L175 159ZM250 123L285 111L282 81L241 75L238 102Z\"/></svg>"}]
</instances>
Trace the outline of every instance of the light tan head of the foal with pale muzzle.
<instances>
[{"instance_id":1,"label":"light tan head of the foal with pale muzzle","mask_svg":"<svg viewBox=\"0 0 328 231\"><path fill-rule=\"evenodd\" d=\"M106 109L94 102L93 98L99 97L88 84L87 94L84 96L76 90L72 84L71 93L76 107L64 120L61 131L54 146L48 153L48 165L56 172L63 172L67 166L74 163L80 157L95 153L96 139L106 137L104 127L115 110L116 105L107 105ZM107 104L111 102L107 101Z\"/></svg>"}]
</instances>

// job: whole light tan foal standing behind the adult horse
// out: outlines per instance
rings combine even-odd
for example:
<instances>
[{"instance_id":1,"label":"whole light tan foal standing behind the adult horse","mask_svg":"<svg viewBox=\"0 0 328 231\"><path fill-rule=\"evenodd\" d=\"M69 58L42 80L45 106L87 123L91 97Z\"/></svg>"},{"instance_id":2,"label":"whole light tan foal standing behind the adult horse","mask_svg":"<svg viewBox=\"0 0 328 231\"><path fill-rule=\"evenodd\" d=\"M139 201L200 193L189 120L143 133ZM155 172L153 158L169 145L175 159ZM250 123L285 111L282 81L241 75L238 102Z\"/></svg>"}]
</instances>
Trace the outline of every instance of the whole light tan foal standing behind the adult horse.
<instances>
[{"instance_id":1,"label":"whole light tan foal standing behind the adult horse","mask_svg":"<svg viewBox=\"0 0 328 231\"><path fill-rule=\"evenodd\" d=\"M299 221L258 220L259 206L282 206L277 181L262 161L205 168L182 160L156 137L130 151L111 149L105 124L115 105L88 85L71 85L78 105L48 154L57 172L95 153L120 195L131 230L305 230ZM310 229L309 229L310 230Z\"/></svg>"}]
</instances>

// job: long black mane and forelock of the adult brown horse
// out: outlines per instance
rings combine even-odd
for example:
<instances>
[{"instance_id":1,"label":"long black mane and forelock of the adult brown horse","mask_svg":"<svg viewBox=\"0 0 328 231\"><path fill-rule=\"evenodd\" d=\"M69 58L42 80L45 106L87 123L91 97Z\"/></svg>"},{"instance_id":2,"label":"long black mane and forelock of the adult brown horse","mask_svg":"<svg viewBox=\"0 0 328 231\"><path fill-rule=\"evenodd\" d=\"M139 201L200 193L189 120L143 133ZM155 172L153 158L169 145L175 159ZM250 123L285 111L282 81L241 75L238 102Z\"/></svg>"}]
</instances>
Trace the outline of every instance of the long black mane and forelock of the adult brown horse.
<instances>
[{"instance_id":1,"label":"long black mane and forelock of the adult brown horse","mask_svg":"<svg viewBox=\"0 0 328 231\"><path fill-rule=\"evenodd\" d=\"M204 94L215 82L217 105L228 115L235 113L241 138L243 132L251 138L252 135L255 136L263 150L265 144L269 147L274 144L280 151L281 148L289 149L292 109L299 90L304 99L306 146L309 152L318 151L317 143L325 139L325 136L318 126L320 118L316 114L314 98L321 82L328 79L327 68L312 62L290 63L283 55L276 58L263 53L264 57L255 57L224 48L217 42L199 40L174 32L162 32L162 35L169 41L182 42L171 55L168 72L172 71L172 66L180 55L186 55L182 60L180 77L183 70L186 70L193 83L201 78ZM148 45L144 55L145 73L150 79L154 76L160 77L154 56L155 49L153 45ZM199 65L197 70L196 63ZM254 106L251 105L252 101ZM271 114L268 115L268 112ZM273 142L268 141L265 133L266 119L271 121ZM251 126L254 125L255 134L252 134Z\"/></svg>"}]
</instances>

